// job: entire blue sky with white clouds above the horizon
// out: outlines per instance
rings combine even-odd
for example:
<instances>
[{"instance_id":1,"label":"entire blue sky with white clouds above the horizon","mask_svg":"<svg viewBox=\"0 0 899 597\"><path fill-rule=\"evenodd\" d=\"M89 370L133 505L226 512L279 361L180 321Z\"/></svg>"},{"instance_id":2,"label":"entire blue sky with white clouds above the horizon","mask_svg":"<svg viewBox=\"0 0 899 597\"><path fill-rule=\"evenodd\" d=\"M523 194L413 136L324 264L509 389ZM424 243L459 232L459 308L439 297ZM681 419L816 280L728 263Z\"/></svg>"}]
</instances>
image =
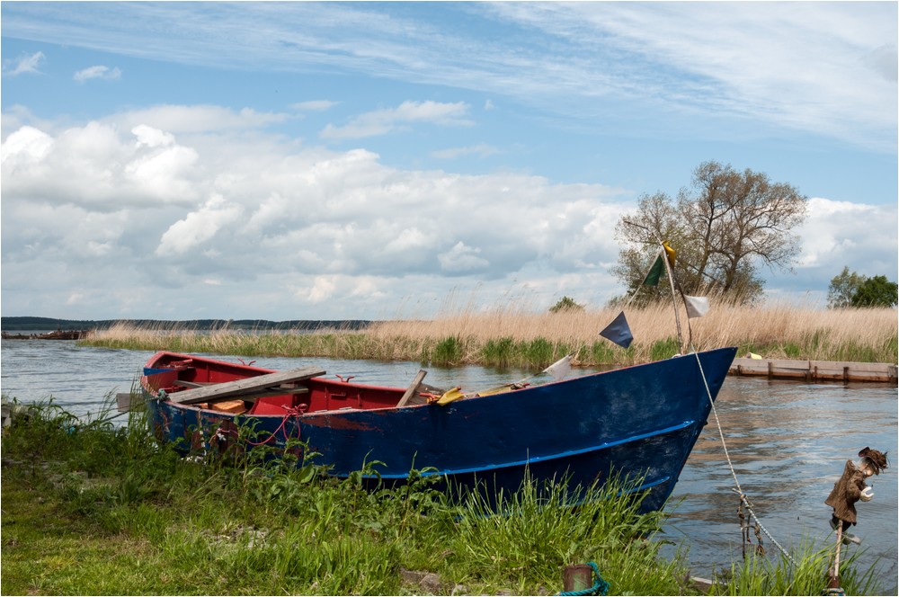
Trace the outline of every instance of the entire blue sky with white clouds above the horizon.
<instances>
[{"instance_id":1,"label":"entire blue sky with white clouds above the horizon","mask_svg":"<svg viewBox=\"0 0 899 597\"><path fill-rule=\"evenodd\" d=\"M4 316L599 309L709 160L808 198L769 302L897 278L895 2L0 12Z\"/></svg>"}]
</instances>

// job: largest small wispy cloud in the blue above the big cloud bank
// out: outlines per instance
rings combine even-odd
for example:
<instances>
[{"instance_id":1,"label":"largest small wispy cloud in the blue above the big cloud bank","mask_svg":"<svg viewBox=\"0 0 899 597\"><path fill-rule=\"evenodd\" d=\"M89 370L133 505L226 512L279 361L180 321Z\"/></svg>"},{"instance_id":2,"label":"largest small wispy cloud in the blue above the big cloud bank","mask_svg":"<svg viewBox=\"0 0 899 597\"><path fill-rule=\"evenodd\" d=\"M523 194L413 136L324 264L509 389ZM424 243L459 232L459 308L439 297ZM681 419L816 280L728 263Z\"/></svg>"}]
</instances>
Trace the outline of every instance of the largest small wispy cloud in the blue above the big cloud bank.
<instances>
[{"instance_id":1,"label":"largest small wispy cloud in the blue above the big cloud bank","mask_svg":"<svg viewBox=\"0 0 899 597\"><path fill-rule=\"evenodd\" d=\"M465 102L403 102L396 108L360 114L343 127L329 124L321 132L323 138L363 138L384 135L411 122L425 122L442 126L470 126L464 118L468 112Z\"/></svg>"}]
</instances>

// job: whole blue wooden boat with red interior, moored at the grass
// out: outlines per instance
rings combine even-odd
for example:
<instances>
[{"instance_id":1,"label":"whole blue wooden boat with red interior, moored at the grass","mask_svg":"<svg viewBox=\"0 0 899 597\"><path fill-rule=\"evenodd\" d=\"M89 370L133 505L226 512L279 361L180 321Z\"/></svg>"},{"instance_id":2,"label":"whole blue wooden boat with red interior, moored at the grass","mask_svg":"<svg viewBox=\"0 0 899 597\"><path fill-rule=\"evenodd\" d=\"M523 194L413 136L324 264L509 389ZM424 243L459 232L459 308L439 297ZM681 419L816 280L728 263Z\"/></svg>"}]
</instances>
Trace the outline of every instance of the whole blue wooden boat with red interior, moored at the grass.
<instances>
[{"instance_id":1,"label":"whole blue wooden boat with red interior, moored at the grass","mask_svg":"<svg viewBox=\"0 0 899 597\"><path fill-rule=\"evenodd\" d=\"M447 405L428 402L439 393L421 376L410 388L384 388L325 379L316 368L272 371L174 352L147 361L141 383L157 437L184 452L252 448L238 432L250 426L255 444L303 441L336 477L377 460L382 482L432 468L426 474L447 486L514 492L526 470L572 488L614 470L642 479L649 511L671 495L735 352L510 386Z\"/></svg>"}]
</instances>

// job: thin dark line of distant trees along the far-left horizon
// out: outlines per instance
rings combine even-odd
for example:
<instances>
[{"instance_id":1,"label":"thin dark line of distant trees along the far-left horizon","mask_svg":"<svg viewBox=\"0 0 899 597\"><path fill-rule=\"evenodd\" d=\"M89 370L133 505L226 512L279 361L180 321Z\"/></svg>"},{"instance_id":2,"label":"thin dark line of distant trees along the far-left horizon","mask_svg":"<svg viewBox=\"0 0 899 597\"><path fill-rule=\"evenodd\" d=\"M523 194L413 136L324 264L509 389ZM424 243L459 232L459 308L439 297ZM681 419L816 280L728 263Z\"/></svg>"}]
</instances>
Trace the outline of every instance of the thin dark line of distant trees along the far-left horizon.
<instances>
[{"instance_id":1,"label":"thin dark line of distant trees along the far-left horizon","mask_svg":"<svg viewBox=\"0 0 899 597\"><path fill-rule=\"evenodd\" d=\"M291 319L269 321L265 319L191 319L169 321L161 319L54 319L52 317L3 317L0 328L4 331L48 330L96 330L116 324L150 327L159 330L303 330L322 329L362 330L371 325L367 319Z\"/></svg>"}]
</instances>

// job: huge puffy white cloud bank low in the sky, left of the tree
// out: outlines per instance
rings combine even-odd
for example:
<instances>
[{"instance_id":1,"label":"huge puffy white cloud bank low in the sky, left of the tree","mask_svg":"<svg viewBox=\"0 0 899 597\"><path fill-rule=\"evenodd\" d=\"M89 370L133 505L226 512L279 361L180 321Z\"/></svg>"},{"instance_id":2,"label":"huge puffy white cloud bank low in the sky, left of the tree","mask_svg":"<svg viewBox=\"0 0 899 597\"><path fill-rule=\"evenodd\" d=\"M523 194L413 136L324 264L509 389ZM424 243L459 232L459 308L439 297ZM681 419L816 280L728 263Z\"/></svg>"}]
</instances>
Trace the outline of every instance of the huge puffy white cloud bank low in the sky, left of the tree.
<instances>
[{"instance_id":1,"label":"huge puffy white cloud bank low in the sky, left of the tree","mask_svg":"<svg viewBox=\"0 0 899 597\"><path fill-rule=\"evenodd\" d=\"M29 271L65 264L59 283L85 296L113 287L93 308L149 316L160 313L154 301L141 307L114 287L139 286L148 297L190 288L179 296L191 304L262 309L239 297L246 283L265 281L272 296L283 293L265 298L266 313L290 318L294 296L325 318L338 308L344 316L372 316L409 296L406 279L438 297L463 274L512 284L533 263L556 263L562 247L592 261L604 245L587 226L604 227L602 238L614 224L589 217L588 205L616 194L601 185L404 171L362 149L302 148L277 136L256 138L252 147L240 134L194 141L186 146L147 124L123 132L100 122L56 136L37 129L11 134L3 164L4 283L24 292ZM560 212L570 218L539 224ZM567 239L554 240L556 234ZM218 294L205 298L213 287ZM18 300L4 290L7 297L11 306ZM329 300L337 297L340 307ZM90 301L79 305L91 308ZM192 308L185 304L184 312ZM248 316L278 318L266 313Z\"/></svg>"}]
</instances>

